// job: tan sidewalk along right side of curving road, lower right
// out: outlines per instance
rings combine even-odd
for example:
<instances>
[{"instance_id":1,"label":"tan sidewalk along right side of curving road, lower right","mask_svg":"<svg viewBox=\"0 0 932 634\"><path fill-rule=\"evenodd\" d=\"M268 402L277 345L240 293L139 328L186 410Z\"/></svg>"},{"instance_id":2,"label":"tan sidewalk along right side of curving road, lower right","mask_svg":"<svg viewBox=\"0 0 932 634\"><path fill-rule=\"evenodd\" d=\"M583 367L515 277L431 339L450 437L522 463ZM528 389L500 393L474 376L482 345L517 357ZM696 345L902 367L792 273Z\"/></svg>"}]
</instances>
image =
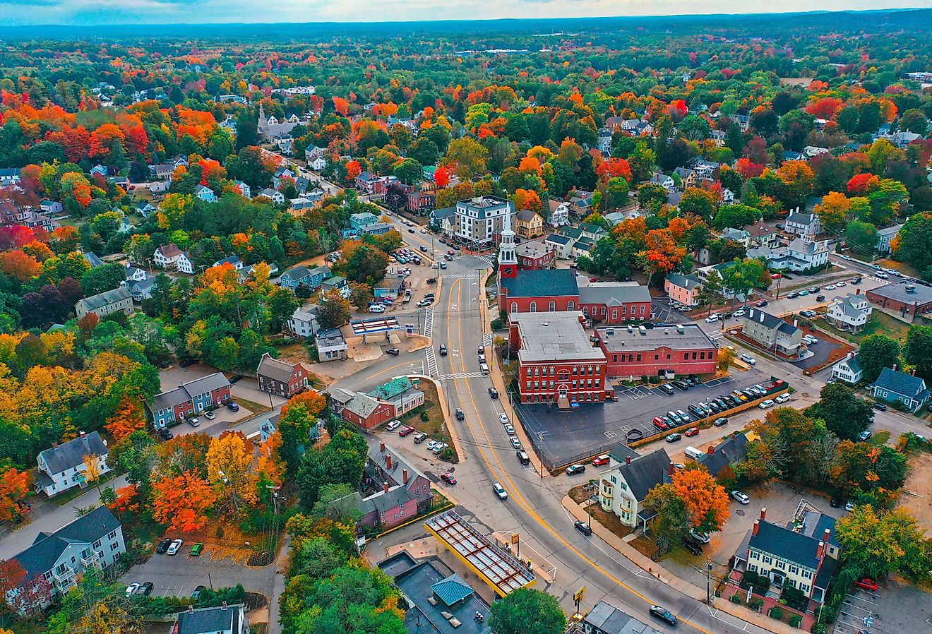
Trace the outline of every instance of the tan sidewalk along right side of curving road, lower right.
<instances>
[{"instance_id":1,"label":"tan sidewalk along right side of curving road, lower right","mask_svg":"<svg viewBox=\"0 0 932 634\"><path fill-rule=\"evenodd\" d=\"M563 500L560 502L563 504L563 507L569 511L570 515L576 519L580 519L582 521L588 520L589 514L585 511L583 506L573 502L569 496L564 496ZM693 586L691 583L683 581L679 577L666 571L659 563L639 553L633 546L625 543L621 537L609 531L598 522L592 523L592 531L602 541L604 541L606 544L609 544L612 548L618 551L620 555L624 556L624 558L631 561L644 572L649 572L651 576L659 580L661 583L676 588L679 592L683 593L687 597L699 601L700 603L706 602L705 588ZM799 634L801 631L797 627L790 627L786 623L781 623L776 619L773 619L765 614L754 612L753 610L750 610L744 606L735 605L731 601L724 598L713 597L712 606L717 608L720 612L731 614L732 616L737 617L742 621L746 621L747 623L761 627L767 631L774 632L774 634Z\"/></svg>"}]
</instances>

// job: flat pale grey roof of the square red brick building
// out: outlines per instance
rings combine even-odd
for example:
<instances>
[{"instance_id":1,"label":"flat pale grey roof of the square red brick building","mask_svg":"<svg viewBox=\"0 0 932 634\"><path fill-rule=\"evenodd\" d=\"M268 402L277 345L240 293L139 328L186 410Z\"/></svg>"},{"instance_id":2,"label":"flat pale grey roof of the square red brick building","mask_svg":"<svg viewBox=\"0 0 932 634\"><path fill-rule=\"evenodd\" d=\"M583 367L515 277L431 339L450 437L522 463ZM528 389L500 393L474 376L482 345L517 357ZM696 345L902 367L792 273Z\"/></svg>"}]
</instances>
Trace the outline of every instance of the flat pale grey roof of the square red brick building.
<instances>
[{"instance_id":1,"label":"flat pale grey roof of the square red brick building","mask_svg":"<svg viewBox=\"0 0 932 634\"><path fill-rule=\"evenodd\" d=\"M513 312L510 324L517 324L521 338L521 361L572 361L605 359L605 352L594 348L580 321L578 310L554 312Z\"/></svg>"}]
</instances>

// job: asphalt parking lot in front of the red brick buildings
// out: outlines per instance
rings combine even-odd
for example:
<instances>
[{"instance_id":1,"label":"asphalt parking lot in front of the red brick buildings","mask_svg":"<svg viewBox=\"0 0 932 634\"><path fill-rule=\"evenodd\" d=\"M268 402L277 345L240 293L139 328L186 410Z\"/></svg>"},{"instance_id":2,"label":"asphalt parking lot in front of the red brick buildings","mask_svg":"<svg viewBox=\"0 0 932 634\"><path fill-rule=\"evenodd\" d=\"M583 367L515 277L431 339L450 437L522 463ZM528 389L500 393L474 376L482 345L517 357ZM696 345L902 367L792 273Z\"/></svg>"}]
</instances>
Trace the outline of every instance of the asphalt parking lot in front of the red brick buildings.
<instances>
[{"instance_id":1,"label":"asphalt parking lot in front of the red brick buildings","mask_svg":"<svg viewBox=\"0 0 932 634\"><path fill-rule=\"evenodd\" d=\"M533 436L544 454L544 461L565 464L624 442L632 430L638 430L643 436L657 434L651 419L669 410L685 412L692 403L755 383L763 384L768 379L763 372L752 368L734 377L706 381L688 392L676 390L667 394L658 387L621 387L616 389L618 400L604 404L583 404L569 411L561 411L555 405L525 404L518 405L516 411L525 432ZM728 415L727 412L722 414Z\"/></svg>"}]
</instances>

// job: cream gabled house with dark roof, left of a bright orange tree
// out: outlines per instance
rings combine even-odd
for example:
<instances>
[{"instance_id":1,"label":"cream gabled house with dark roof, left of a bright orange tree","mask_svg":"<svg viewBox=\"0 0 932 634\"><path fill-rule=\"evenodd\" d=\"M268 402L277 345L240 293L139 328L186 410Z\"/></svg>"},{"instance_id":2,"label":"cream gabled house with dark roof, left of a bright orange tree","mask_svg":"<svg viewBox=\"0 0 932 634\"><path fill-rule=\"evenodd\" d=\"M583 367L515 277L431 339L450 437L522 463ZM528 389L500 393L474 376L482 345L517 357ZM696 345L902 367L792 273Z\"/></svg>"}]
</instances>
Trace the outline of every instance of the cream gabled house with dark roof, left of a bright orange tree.
<instances>
[{"instance_id":1,"label":"cream gabled house with dark roof, left of a bright orange tree","mask_svg":"<svg viewBox=\"0 0 932 634\"><path fill-rule=\"evenodd\" d=\"M670 481L673 462L664 449L619 457L621 461L612 460L610 467L598 474L598 502L602 510L614 513L625 526L647 531L653 515L644 510L644 500L651 489Z\"/></svg>"}]
</instances>

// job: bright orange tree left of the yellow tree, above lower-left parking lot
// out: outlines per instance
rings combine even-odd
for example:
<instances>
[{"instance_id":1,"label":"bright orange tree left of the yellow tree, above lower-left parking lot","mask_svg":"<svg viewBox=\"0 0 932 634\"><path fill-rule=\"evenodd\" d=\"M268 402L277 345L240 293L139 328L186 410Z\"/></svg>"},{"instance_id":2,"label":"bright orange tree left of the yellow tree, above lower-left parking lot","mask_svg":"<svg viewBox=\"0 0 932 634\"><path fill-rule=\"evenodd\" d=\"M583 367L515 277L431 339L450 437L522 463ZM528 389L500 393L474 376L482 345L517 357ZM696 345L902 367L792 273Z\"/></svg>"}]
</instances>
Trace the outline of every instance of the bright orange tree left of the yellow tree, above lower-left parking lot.
<instances>
[{"instance_id":1,"label":"bright orange tree left of the yellow tree, above lower-left parking lot","mask_svg":"<svg viewBox=\"0 0 932 634\"><path fill-rule=\"evenodd\" d=\"M152 517L170 531L197 531L216 499L211 484L190 471L164 476L152 487Z\"/></svg>"}]
</instances>

